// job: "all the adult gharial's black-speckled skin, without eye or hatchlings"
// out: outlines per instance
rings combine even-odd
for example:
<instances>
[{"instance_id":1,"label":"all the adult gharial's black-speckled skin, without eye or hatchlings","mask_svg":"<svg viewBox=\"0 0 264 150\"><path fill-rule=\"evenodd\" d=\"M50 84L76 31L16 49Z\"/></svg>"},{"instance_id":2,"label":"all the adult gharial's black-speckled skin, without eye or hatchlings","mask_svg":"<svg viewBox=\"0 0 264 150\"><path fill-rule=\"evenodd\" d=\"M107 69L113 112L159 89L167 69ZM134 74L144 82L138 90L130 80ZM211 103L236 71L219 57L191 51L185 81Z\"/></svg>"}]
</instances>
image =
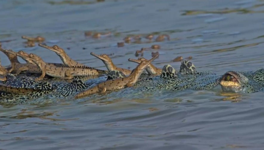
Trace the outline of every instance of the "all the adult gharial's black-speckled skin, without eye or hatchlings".
<instances>
[{"instance_id":1,"label":"all the adult gharial's black-speckled skin, without eye or hatchlings","mask_svg":"<svg viewBox=\"0 0 264 150\"><path fill-rule=\"evenodd\" d=\"M236 72L243 85L244 91L259 92L264 91L264 69L250 72ZM125 75L113 71L109 72L108 78L120 78ZM105 81L106 78L98 80L91 79L86 82L79 78L74 79L70 83L65 82L50 82L34 80L35 77L15 77L11 74L7 75L6 83L14 87L30 87L39 91L25 92L23 94L12 94L0 91L0 102L4 103L27 103L29 100L39 97L68 97L75 95L77 92L97 85ZM135 90L141 92L152 92L160 90L181 91L186 89L191 90L209 90L220 83L222 75L216 75L210 71L197 72L193 63L183 61L180 66L180 71L177 72L172 66L165 65L160 76L141 75L138 82L133 86ZM21 82L18 82L21 81Z\"/></svg>"}]
</instances>

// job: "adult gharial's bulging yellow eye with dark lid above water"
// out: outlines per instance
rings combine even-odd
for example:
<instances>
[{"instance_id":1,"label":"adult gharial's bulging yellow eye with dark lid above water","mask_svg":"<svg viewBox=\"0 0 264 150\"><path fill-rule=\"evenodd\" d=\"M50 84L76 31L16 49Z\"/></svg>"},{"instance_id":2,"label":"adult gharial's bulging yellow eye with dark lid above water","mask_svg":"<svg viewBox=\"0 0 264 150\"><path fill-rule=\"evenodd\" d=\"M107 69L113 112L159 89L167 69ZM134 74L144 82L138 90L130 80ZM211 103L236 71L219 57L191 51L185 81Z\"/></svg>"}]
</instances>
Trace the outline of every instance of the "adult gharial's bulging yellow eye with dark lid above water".
<instances>
[{"instance_id":1,"label":"adult gharial's bulging yellow eye with dark lid above water","mask_svg":"<svg viewBox=\"0 0 264 150\"><path fill-rule=\"evenodd\" d=\"M239 72L226 72L220 81L223 91L251 93L254 89L248 82L248 78Z\"/></svg>"}]
</instances>

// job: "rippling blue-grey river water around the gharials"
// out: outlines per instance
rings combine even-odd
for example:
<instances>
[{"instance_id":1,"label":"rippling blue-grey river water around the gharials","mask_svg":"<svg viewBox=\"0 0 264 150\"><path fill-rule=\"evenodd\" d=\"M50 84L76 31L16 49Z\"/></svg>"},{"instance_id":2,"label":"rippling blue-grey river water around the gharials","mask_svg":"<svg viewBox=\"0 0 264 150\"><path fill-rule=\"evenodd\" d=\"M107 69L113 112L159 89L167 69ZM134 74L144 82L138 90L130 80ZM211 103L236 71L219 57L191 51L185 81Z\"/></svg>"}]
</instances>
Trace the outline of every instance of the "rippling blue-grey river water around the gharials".
<instances>
[{"instance_id":1,"label":"rippling blue-grey river water around the gharials","mask_svg":"<svg viewBox=\"0 0 264 150\"><path fill-rule=\"evenodd\" d=\"M46 62L59 57L41 47L24 48L22 35L44 36L71 58L106 69L90 55L112 54L118 67L135 68L128 58L147 50L162 68L179 70L178 56L192 56L197 71L223 74L263 67L263 0L8 0L0 1L0 41L4 49L25 50ZM111 32L100 39L85 31ZM170 35L170 41L142 38L117 47L130 35ZM9 65L0 53L1 63ZM20 59L21 60L21 59ZM142 98L86 97L54 103L1 105L0 149L263 149L264 93L235 94L220 89L149 93Z\"/></svg>"}]
</instances>

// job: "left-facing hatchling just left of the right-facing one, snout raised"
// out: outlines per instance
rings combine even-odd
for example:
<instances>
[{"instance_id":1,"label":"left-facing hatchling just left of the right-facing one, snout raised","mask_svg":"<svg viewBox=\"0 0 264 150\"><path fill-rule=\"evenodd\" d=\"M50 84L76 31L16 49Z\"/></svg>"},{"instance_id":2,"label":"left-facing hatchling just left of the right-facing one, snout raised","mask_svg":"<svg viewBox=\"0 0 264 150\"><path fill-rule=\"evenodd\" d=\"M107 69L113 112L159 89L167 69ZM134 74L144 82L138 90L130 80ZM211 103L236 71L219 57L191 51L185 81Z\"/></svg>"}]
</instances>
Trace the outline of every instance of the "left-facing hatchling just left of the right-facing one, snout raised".
<instances>
[{"instance_id":1,"label":"left-facing hatchling just left of the right-facing one, snout raised","mask_svg":"<svg viewBox=\"0 0 264 150\"><path fill-rule=\"evenodd\" d=\"M130 75L131 73L131 70L129 69L123 69L123 68L116 67L115 64L112 62L112 59L109 58L106 54L97 55L91 52L91 55L95 56L96 58L101 59L103 63L106 65L106 68L108 69L108 71L120 71L124 75Z\"/></svg>"}]
</instances>

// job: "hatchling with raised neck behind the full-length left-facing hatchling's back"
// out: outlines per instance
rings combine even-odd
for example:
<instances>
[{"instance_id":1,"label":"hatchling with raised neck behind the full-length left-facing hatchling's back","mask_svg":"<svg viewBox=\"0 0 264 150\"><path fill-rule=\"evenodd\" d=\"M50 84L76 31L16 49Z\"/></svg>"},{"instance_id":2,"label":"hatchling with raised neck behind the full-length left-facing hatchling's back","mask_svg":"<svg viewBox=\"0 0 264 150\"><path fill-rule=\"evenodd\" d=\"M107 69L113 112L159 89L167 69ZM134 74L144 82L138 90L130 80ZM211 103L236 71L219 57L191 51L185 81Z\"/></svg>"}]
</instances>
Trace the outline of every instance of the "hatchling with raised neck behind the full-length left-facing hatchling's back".
<instances>
[{"instance_id":1,"label":"hatchling with raised neck behind the full-length left-facing hatchling's back","mask_svg":"<svg viewBox=\"0 0 264 150\"><path fill-rule=\"evenodd\" d=\"M61 61L64 63L66 67L79 67L79 66L85 66L84 64L78 63L77 61L70 58L67 53L58 45L53 45L53 47L49 47L43 44L38 44L40 47L44 47L48 50L51 50L55 52L60 58Z\"/></svg>"}]
</instances>

